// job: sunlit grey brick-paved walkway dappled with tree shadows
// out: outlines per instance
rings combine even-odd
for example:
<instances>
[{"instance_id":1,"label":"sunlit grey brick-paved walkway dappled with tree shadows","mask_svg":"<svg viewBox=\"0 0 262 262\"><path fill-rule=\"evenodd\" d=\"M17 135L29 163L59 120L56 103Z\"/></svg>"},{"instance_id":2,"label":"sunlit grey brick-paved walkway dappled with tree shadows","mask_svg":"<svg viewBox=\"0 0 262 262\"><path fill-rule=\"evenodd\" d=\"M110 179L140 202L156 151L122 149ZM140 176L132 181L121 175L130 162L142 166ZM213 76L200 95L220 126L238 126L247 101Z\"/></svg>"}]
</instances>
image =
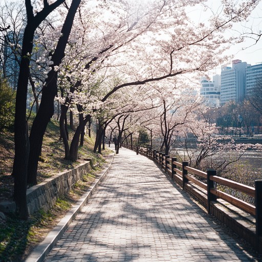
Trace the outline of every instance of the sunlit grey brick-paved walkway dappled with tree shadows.
<instances>
[{"instance_id":1,"label":"sunlit grey brick-paved walkway dappled with tree shadows","mask_svg":"<svg viewBox=\"0 0 262 262\"><path fill-rule=\"evenodd\" d=\"M120 149L45 261L258 261L146 157Z\"/></svg>"}]
</instances>

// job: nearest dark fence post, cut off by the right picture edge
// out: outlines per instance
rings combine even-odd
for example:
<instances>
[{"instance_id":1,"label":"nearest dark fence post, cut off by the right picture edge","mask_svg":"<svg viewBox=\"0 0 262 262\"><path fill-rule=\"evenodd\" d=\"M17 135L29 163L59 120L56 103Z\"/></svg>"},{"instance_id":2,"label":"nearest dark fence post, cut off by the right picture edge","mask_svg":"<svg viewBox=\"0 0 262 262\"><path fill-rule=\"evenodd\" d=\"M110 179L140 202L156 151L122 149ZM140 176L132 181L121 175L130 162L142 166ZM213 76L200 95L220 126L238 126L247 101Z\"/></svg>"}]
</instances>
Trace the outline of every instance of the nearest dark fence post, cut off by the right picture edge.
<instances>
[{"instance_id":1,"label":"nearest dark fence post, cut off by the right picture edge","mask_svg":"<svg viewBox=\"0 0 262 262\"><path fill-rule=\"evenodd\" d=\"M259 247L259 238L262 236L262 179L255 180L255 206L256 206L256 245L257 250L262 252Z\"/></svg>"}]
</instances>

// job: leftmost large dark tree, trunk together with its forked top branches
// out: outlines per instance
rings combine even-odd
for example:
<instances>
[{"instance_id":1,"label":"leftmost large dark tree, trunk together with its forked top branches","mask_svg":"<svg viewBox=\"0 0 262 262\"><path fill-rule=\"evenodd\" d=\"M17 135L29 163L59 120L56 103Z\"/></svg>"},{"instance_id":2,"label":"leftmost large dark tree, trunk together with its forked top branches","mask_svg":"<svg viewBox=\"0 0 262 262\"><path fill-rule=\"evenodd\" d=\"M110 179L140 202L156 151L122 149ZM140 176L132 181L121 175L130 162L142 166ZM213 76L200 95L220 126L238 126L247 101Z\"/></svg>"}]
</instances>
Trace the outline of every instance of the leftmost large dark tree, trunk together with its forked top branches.
<instances>
[{"instance_id":1,"label":"leftmost large dark tree, trunk together with its forked top branches","mask_svg":"<svg viewBox=\"0 0 262 262\"><path fill-rule=\"evenodd\" d=\"M31 1L26 0L27 25L24 30L23 46L21 50L20 71L16 89L15 104L15 123L14 123L14 140L15 140L15 157L13 164L14 176L14 199L22 219L27 219L28 210L26 203L27 189L27 169L29 159L29 135L28 124L26 119L28 79L30 68L30 55L33 49L33 38L36 28L40 23L64 0L57 0L50 4L43 0L43 6L40 10L33 8Z\"/></svg>"}]
</instances>

